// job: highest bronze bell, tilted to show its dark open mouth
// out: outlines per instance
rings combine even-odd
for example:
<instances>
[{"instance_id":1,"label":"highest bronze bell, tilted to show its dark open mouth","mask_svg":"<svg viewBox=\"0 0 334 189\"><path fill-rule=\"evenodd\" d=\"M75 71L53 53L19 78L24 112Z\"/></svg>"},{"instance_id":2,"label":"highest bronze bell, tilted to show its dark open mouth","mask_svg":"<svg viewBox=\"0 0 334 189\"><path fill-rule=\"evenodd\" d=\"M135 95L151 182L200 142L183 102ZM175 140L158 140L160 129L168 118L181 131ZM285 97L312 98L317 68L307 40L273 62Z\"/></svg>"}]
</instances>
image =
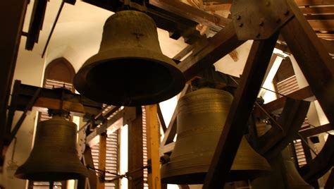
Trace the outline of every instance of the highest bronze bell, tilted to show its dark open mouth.
<instances>
[{"instance_id":1,"label":"highest bronze bell, tilted to show its dark open mouth","mask_svg":"<svg viewBox=\"0 0 334 189\"><path fill-rule=\"evenodd\" d=\"M162 54L154 20L139 11L120 11L106 20L99 52L80 68L74 85L96 102L140 106L175 96L185 78Z\"/></svg>"}]
</instances>

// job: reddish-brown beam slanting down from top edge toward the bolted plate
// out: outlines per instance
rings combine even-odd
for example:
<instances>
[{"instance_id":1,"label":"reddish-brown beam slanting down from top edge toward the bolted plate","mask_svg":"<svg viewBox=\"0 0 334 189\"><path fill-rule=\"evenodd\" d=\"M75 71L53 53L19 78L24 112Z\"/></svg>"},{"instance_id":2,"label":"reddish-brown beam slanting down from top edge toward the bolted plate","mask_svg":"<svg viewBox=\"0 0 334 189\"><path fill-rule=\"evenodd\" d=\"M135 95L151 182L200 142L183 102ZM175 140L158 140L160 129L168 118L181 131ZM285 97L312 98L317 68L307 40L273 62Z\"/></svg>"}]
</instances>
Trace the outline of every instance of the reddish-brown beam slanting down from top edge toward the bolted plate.
<instances>
[{"instance_id":1,"label":"reddish-brown beam slanting down from top edge toward the bolted plate","mask_svg":"<svg viewBox=\"0 0 334 189\"><path fill-rule=\"evenodd\" d=\"M207 25L210 28L219 29L230 23L230 19L228 18L223 18L222 16L217 15L213 16L178 0L149 0L149 4L166 11L171 11L179 16L193 20L194 22Z\"/></svg>"}]
</instances>

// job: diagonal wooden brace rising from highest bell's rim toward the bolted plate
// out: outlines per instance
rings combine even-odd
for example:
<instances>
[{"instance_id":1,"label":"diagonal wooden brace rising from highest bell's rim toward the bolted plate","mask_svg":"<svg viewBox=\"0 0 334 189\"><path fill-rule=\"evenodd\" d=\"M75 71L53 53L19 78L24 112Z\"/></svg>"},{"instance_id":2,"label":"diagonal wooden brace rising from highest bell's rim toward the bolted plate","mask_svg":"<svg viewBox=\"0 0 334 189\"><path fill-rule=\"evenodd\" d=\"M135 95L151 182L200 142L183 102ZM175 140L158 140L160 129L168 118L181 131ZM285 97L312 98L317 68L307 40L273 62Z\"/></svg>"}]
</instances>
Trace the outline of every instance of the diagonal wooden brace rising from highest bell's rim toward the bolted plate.
<instances>
[{"instance_id":1,"label":"diagonal wooden brace rising from highest bell's rim toward the bolted plate","mask_svg":"<svg viewBox=\"0 0 334 189\"><path fill-rule=\"evenodd\" d=\"M209 42L197 51L197 53L188 56L178 66L183 71L186 80L191 80L199 71L209 68L213 63L244 42L237 39L234 25L230 23L209 39Z\"/></svg>"}]
</instances>

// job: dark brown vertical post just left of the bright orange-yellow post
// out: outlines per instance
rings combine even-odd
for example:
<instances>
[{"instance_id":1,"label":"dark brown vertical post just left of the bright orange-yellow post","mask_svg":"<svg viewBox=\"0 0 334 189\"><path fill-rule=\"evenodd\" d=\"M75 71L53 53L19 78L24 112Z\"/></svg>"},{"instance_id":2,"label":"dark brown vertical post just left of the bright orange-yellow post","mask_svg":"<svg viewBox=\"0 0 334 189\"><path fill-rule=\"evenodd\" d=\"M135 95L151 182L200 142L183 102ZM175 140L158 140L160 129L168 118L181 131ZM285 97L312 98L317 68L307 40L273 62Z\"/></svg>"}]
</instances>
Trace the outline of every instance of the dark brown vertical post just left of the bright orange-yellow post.
<instances>
[{"instance_id":1,"label":"dark brown vertical post just left of the bright orange-yellow post","mask_svg":"<svg viewBox=\"0 0 334 189\"><path fill-rule=\"evenodd\" d=\"M144 188L144 171L139 170L143 166L142 147L142 107L139 106L136 108L136 118L128 123L128 172L131 177L128 180L129 189Z\"/></svg>"}]
</instances>

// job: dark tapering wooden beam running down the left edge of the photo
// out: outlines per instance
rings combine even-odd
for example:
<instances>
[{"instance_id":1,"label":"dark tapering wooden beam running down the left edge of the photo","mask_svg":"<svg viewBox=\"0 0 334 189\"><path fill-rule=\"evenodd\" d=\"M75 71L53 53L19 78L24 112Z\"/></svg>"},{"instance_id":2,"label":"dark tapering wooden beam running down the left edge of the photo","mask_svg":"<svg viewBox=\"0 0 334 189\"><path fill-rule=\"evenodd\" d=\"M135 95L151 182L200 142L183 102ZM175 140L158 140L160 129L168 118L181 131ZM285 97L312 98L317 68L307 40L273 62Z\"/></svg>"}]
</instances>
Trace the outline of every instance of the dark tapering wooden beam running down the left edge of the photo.
<instances>
[{"instance_id":1,"label":"dark tapering wooden beam running down the left edge of the photo","mask_svg":"<svg viewBox=\"0 0 334 189\"><path fill-rule=\"evenodd\" d=\"M6 25L6 27L1 29L0 35L0 152L2 152L0 156L0 167L4 164L6 113L27 3L27 0L1 1L0 3L1 18L10 18L1 20L2 25Z\"/></svg>"}]
</instances>

